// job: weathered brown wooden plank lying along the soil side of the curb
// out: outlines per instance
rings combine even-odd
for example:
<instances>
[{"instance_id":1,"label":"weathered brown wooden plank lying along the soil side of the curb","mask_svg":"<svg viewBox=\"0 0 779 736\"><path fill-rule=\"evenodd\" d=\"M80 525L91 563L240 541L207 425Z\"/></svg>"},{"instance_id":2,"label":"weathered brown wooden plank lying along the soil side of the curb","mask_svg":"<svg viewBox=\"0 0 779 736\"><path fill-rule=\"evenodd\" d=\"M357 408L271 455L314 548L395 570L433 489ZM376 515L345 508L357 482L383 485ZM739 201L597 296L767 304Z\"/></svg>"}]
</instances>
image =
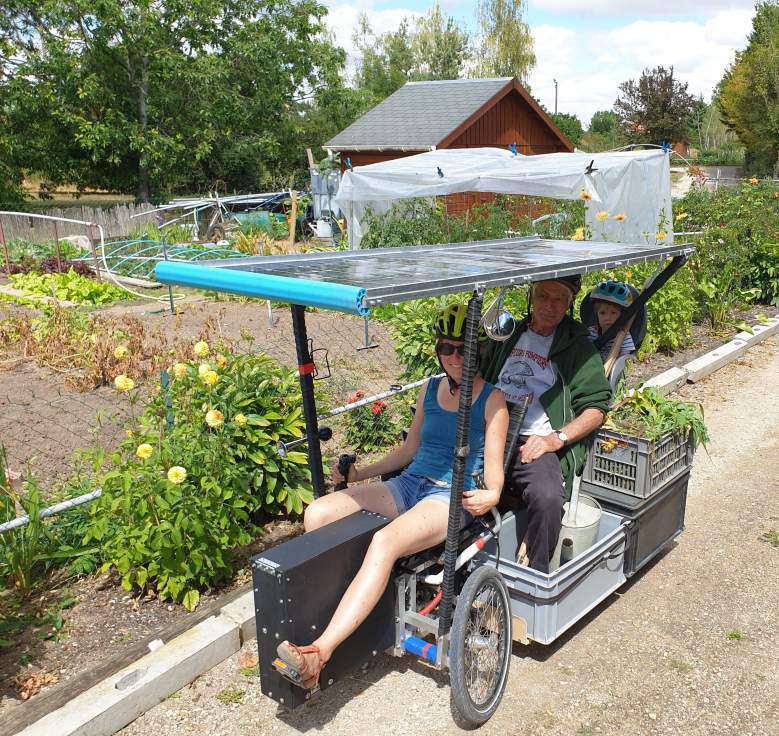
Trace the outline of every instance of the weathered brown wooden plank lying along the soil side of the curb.
<instances>
[{"instance_id":1,"label":"weathered brown wooden plank lying along the soil side of the curb","mask_svg":"<svg viewBox=\"0 0 779 736\"><path fill-rule=\"evenodd\" d=\"M0 734L13 736L13 734L19 733L19 731L39 721L52 711L57 710L57 708L61 708L65 703L96 685L101 680L110 677L148 654L151 642L160 640L166 643L171 639L175 639L187 629L201 621L205 621L210 616L218 614L223 606L232 603L251 589L251 583L246 583L240 588L236 588L230 593L211 601L193 613L162 626L150 634L144 641L133 645L116 657L99 662L88 671L82 672L70 680L53 685L51 688L47 688L39 696L17 706L8 715L0 717Z\"/></svg>"}]
</instances>

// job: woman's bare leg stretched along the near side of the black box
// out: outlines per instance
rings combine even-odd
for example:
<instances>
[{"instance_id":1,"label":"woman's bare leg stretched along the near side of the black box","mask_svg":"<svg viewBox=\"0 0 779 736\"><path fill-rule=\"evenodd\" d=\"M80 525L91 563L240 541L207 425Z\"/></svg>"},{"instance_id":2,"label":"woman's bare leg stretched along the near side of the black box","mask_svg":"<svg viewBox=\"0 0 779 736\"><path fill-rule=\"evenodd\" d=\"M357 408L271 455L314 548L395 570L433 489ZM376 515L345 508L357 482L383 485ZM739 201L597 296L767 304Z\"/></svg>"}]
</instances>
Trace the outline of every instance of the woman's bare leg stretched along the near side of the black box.
<instances>
[{"instance_id":1,"label":"woman's bare leg stretched along the near side of the black box","mask_svg":"<svg viewBox=\"0 0 779 736\"><path fill-rule=\"evenodd\" d=\"M420 501L373 535L362 567L322 636L313 642L319 647L323 661L330 659L333 650L368 617L387 587L396 560L446 539L448 518L447 504L428 499Z\"/></svg>"}]
</instances>

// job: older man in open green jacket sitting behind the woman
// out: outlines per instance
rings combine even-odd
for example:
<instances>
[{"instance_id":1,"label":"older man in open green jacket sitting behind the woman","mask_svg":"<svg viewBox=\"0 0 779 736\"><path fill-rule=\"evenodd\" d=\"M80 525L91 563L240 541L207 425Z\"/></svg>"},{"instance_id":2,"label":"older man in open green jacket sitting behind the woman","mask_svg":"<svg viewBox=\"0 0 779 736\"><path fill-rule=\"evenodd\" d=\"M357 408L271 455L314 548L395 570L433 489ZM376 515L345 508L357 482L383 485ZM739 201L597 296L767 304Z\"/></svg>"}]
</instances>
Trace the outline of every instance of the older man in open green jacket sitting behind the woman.
<instances>
[{"instance_id":1,"label":"older man in open green jacket sitting behind the woman","mask_svg":"<svg viewBox=\"0 0 779 736\"><path fill-rule=\"evenodd\" d=\"M530 567L541 572L549 571L563 503L584 465L584 440L603 423L611 401L587 329L567 315L580 288L579 276L533 284L530 316L481 361L484 379L507 401L531 396L504 500L527 506Z\"/></svg>"}]
</instances>

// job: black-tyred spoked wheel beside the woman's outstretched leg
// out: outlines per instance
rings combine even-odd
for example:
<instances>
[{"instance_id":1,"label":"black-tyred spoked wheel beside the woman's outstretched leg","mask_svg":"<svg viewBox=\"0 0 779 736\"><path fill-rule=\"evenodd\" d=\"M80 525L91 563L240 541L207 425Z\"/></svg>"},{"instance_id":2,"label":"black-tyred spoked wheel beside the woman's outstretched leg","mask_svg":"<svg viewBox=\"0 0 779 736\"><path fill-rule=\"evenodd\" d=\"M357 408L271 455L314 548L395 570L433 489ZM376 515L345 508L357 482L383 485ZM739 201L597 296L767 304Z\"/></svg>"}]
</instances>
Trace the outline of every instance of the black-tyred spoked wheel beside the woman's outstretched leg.
<instances>
[{"instance_id":1,"label":"black-tyred spoked wheel beside the woman's outstretched leg","mask_svg":"<svg viewBox=\"0 0 779 736\"><path fill-rule=\"evenodd\" d=\"M457 599L449 650L452 711L458 725L478 728L498 709L511 661L511 607L494 567L478 567Z\"/></svg>"}]
</instances>

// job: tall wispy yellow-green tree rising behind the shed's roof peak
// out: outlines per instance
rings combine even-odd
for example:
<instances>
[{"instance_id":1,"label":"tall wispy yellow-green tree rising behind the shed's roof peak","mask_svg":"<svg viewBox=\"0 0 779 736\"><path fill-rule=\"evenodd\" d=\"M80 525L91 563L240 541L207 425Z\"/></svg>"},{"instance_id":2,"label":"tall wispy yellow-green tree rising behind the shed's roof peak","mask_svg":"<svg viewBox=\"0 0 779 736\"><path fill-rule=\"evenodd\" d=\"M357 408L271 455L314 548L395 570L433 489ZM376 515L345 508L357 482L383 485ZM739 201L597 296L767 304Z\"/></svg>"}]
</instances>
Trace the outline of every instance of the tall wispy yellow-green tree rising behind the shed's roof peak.
<instances>
[{"instance_id":1,"label":"tall wispy yellow-green tree rising behind the shed's roof peak","mask_svg":"<svg viewBox=\"0 0 779 736\"><path fill-rule=\"evenodd\" d=\"M517 77L527 82L536 55L523 12L522 0L479 0L479 76Z\"/></svg>"}]
</instances>

